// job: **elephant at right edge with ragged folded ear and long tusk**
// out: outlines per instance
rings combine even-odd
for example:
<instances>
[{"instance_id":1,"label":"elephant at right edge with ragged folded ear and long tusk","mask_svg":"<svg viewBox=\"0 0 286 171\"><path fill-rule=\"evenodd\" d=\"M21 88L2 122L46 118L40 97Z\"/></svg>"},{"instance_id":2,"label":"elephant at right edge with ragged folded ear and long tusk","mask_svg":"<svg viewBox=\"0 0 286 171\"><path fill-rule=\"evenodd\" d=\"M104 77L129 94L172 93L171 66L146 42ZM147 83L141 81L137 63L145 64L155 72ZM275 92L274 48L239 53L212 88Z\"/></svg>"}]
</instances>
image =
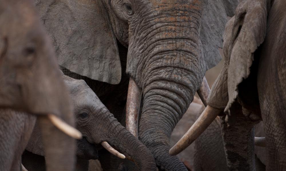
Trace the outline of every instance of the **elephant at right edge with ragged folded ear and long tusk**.
<instances>
[{"instance_id":1,"label":"elephant at right edge with ragged folded ear and long tusk","mask_svg":"<svg viewBox=\"0 0 286 171\"><path fill-rule=\"evenodd\" d=\"M201 124L193 128L200 128L201 133L225 111L221 123L229 170L254 169L253 126L261 119L268 152L266 170L285 170L285 9L285 1L241 1L227 24L226 62L208 99L210 113L205 111L199 119L203 128ZM199 135L193 136L194 131L183 138L188 139L183 146Z\"/></svg>"}]
</instances>

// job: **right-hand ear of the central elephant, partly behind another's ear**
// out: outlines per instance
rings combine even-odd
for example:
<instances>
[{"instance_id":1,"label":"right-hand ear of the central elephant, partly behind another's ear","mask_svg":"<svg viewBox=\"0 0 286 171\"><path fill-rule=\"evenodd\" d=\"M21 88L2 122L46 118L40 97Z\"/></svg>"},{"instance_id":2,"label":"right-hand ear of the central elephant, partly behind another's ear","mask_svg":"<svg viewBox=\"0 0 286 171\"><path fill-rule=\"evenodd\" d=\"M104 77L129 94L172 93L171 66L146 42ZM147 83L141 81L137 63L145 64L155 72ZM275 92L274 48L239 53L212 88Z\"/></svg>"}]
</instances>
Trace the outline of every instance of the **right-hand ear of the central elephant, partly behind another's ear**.
<instances>
[{"instance_id":1,"label":"right-hand ear of the central elephant, partly behind another's ear","mask_svg":"<svg viewBox=\"0 0 286 171\"><path fill-rule=\"evenodd\" d=\"M209 0L202 12L200 38L206 70L221 60L219 48L223 47L223 33L227 17L234 15L238 0Z\"/></svg>"}]
</instances>

